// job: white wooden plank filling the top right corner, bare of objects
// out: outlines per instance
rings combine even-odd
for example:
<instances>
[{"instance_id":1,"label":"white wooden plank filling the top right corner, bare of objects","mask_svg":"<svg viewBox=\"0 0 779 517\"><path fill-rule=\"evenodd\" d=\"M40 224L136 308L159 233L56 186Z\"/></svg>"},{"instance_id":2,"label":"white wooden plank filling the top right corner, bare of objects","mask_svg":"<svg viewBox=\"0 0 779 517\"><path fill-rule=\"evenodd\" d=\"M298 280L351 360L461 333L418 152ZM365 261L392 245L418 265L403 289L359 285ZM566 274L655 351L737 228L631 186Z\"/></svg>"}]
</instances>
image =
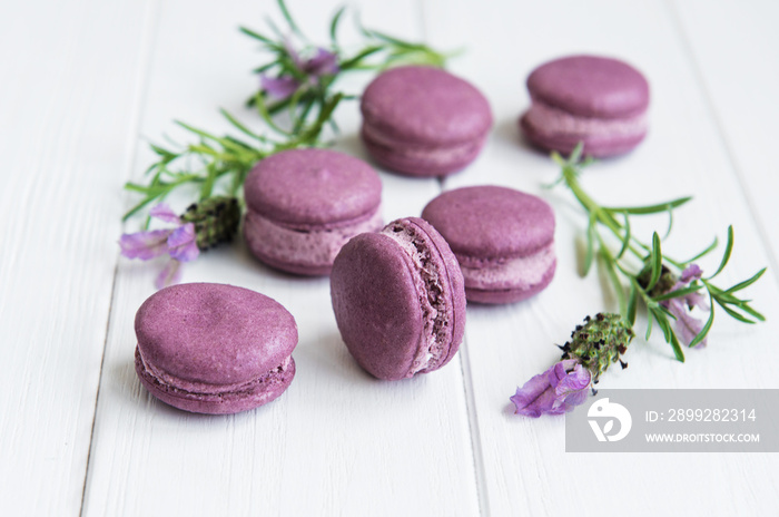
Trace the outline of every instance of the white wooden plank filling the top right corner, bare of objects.
<instances>
[{"instance_id":1,"label":"white wooden plank filling the top right corner, bare of objects","mask_svg":"<svg viewBox=\"0 0 779 517\"><path fill-rule=\"evenodd\" d=\"M779 3L669 2L680 23L682 45L694 60L712 123L724 136L724 150L737 170L750 209L771 250L779 257L779 176L771 150L779 142Z\"/></svg>"}]
</instances>

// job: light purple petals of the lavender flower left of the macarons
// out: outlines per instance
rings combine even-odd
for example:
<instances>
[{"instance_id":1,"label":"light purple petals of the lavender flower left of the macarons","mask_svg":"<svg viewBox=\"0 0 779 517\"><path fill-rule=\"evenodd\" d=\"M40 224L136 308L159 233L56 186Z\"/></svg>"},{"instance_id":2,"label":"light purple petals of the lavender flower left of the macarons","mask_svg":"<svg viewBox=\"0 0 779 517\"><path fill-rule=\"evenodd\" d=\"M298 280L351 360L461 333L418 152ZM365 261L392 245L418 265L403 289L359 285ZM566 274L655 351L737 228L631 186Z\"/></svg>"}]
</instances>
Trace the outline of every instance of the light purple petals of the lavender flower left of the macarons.
<instances>
[{"instance_id":1,"label":"light purple petals of the lavender flower left of the macarons","mask_svg":"<svg viewBox=\"0 0 779 517\"><path fill-rule=\"evenodd\" d=\"M149 211L149 215L177 226L167 230L126 233L119 238L119 246L121 254L128 258L148 261L165 254L170 255L170 261L155 282L157 289L162 289L166 285L178 283L181 277L181 262L194 261L200 254L200 250L197 247L195 224L184 223L168 205L160 203Z\"/></svg>"}]
</instances>

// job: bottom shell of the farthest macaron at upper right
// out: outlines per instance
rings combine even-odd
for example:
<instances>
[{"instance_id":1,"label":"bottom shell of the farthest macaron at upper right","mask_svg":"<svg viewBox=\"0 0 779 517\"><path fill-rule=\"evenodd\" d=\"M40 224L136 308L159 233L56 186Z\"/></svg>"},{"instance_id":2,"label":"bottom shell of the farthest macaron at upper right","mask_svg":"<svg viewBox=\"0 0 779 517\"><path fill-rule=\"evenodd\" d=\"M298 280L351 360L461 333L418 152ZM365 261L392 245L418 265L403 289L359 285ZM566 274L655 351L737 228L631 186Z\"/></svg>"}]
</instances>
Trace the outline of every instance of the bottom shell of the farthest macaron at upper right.
<instances>
[{"instance_id":1,"label":"bottom shell of the farthest macaron at upper right","mask_svg":"<svg viewBox=\"0 0 779 517\"><path fill-rule=\"evenodd\" d=\"M633 150L647 137L647 131L639 135L611 135L611 136L582 136L582 135L544 135L536 130L524 116L520 117L520 128L530 140L545 150L556 150L563 155L569 155L581 142L584 156L593 158L609 158L623 155Z\"/></svg>"}]
</instances>

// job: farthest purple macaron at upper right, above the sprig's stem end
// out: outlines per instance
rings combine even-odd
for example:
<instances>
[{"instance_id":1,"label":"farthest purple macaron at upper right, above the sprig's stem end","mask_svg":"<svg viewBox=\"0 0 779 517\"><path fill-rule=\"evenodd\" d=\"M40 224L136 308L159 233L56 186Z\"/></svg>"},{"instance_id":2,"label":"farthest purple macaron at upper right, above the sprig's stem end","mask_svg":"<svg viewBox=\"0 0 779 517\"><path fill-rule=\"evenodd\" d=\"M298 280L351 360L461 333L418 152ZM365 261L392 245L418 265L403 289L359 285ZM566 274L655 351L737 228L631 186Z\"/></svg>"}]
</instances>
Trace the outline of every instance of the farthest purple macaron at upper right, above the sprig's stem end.
<instances>
[{"instance_id":1,"label":"farthest purple macaron at upper right, above the sprig's stem end","mask_svg":"<svg viewBox=\"0 0 779 517\"><path fill-rule=\"evenodd\" d=\"M628 153L647 135L649 84L618 59L555 59L533 70L527 90L532 105L520 127L543 149L568 155L583 142L585 155L601 158Z\"/></svg>"}]
</instances>

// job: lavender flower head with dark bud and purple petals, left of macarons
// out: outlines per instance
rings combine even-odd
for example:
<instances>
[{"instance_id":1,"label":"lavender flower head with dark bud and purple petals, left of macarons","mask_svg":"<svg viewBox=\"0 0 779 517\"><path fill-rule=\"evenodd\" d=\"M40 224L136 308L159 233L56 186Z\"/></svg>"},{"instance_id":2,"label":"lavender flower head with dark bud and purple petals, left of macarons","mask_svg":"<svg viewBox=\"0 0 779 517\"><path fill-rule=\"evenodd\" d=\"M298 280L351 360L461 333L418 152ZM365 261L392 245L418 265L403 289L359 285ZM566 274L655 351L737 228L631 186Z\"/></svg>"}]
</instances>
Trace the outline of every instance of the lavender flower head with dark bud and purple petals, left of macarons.
<instances>
[{"instance_id":1,"label":"lavender flower head with dark bud and purple petals, left of macarons","mask_svg":"<svg viewBox=\"0 0 779 517\"><path fill-rule=\"evenodd\" d=\"M235 197L215 196L193 204L180 216L165 203L151 208L149 215L176 226L126 233L119 238L119 246L121 254L128 258L149 261L169 255L170 261L155 281L157 289L162 289L180 281L181 263L191 262L200 255L200 251L230 240L238 228L240 208Z\"/></svg>"}]
</instances>

